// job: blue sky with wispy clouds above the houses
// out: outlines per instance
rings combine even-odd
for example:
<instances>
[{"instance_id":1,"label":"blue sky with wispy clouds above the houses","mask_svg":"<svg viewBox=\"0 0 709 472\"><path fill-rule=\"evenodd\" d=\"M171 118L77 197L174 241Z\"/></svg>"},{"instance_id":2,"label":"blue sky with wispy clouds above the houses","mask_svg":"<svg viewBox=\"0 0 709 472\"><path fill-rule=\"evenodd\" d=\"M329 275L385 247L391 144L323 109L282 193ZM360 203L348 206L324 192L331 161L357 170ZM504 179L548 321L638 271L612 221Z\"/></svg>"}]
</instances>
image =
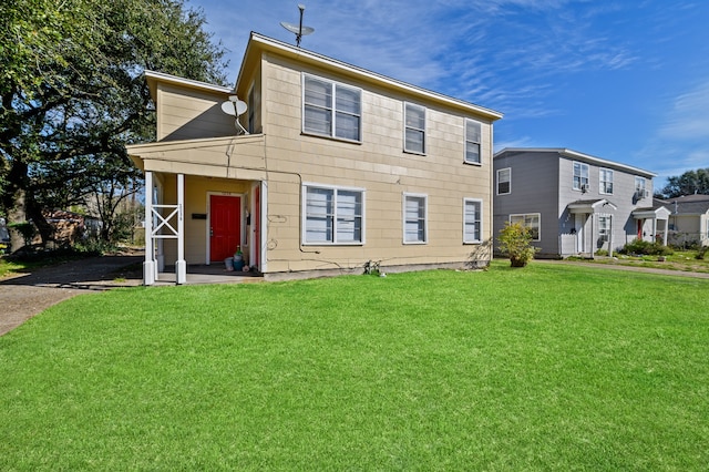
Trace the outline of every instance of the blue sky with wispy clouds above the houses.
<instances>
[{"instance_id":1,"label":"blue sky with wispy clouds above the houses","mask_svg":"<svg viewBox=\"0 0 709 472\"><path fill-rule=\"evenodd\" d=\"M667 176L709 167L709 1L301 0L301 47L504 113L503 147ZM298 1L188 0L236 80L250 31L295 44Z\"/></svg>"}]
</instances>

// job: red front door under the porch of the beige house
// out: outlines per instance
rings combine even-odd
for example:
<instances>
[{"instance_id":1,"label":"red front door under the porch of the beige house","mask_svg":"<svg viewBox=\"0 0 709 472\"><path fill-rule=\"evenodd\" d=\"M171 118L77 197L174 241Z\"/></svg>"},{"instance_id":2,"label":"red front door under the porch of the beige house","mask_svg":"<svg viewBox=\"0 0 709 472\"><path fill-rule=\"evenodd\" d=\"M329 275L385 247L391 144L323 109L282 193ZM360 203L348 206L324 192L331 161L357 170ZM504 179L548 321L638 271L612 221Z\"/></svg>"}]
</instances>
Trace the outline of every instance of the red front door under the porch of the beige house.
<instances>
[{"instance_id":1,"label":"red front door under the porch of the beige house","mask_svg":"<svg viewBox=\"0 0 709 472\"><path fill-rule=\"evenodd\" d=\"M234 256L242 244L242 198L209 196L209 260Z\"/></svg>"}]
</instances>

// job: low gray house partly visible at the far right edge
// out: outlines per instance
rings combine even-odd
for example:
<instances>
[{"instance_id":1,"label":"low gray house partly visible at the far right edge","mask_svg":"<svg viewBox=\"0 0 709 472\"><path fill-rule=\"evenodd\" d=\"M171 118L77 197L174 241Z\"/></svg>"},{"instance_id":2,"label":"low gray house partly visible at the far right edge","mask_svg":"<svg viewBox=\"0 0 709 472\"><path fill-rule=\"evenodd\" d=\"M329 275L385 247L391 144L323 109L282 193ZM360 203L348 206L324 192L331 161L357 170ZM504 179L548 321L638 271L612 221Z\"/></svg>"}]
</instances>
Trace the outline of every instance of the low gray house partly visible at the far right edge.
<instances>
[{"instance_id":1,"label":"low gray house partly visible at the far right edge","mask_svg":"<svg viewBox=\"0 0 709 472\"><path fill-rule=\"evenodd\" d=\"M709 195L656 198L655 204L662 205L671 212L669 217L671 244L709 246Z\"/></svg>"}]
</instances>

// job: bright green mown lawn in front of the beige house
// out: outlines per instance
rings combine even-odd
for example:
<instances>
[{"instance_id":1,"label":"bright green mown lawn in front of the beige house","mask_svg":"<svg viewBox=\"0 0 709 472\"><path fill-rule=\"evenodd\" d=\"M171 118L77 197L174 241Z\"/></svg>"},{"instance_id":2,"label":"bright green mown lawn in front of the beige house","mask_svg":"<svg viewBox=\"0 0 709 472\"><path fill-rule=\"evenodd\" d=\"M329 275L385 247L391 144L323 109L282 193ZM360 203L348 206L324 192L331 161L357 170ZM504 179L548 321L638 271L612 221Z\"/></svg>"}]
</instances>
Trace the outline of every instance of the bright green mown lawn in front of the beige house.
<instances>
[{"instance_id":1,"label":"bright green mown lawn in front of the beige house","mask_svg":"<svg viewBox=\"0 0 709 472\"><path fill-rule=\"evenodd\" d=\"M0 470L706 470L709 280L116 289L0 338Z\"/></svg>"}]
</instances>

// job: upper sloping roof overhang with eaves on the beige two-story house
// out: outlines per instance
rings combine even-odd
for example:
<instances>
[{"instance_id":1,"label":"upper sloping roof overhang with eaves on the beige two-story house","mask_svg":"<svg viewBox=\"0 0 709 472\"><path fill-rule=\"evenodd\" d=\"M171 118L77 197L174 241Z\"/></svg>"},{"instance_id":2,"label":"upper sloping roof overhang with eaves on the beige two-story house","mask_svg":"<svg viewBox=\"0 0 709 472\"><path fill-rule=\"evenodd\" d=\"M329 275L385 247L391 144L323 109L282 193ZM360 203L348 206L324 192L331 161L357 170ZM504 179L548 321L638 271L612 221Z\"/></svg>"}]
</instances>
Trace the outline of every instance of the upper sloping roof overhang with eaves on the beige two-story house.
<instances>
[{"instance_id":1,"label":"upper sloping roof overhang with eaves on the beige two-story house","mask_svg":"<svg viewBox=\"0 0 709 472\"><path fill-rule=\"evenodd\" d=\"M236 89L238 89L242 79L245 76L247 71L256 65L256 61L259 60L264 52L276 53L299 63L315 65L318 69L337 72L342 75L357 79L361 82L383 86L389 90L395 90L407 95L419 96L427 101L438 102L446 106L462 110L466 113L482 115L490 121L500 120L503 116L501 112L412 85L397 79L391 79L377 72L368 71L367 69L358 68L357 65L348 64L337 59L328 58L327 55L318 54L317 52L308 51L256 32L251 32L248 44L246 45L246 52L244 53L239 74L236 80Z\"/></svg>"}]
</instances>

